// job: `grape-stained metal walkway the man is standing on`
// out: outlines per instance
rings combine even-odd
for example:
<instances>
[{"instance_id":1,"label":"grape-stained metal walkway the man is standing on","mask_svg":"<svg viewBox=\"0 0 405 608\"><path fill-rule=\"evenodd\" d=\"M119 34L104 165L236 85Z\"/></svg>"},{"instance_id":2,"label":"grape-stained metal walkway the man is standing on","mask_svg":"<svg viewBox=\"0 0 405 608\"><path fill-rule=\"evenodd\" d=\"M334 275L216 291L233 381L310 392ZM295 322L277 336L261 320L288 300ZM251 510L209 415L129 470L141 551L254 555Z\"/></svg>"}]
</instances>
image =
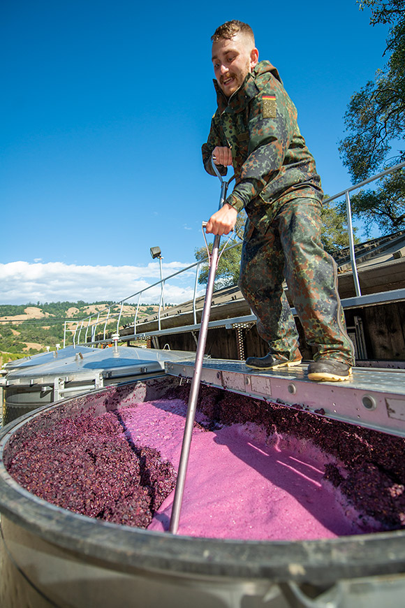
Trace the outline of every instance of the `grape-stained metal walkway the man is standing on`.
<instances>
[{"instance_id":1,"label":"grape-stained metal walkway the man is standing on","mask_svg":"<svg viewBox=\"0 0 405 608\"><path fill-rule=\"evenodd\" d=\"M306 371L307 364L259 372L242 361L204 359L201 382L405 437L405 370L356 367L346 382L311 382ZM191 379L193 362L168 361L165 372Z\"/></svg>"}]
</instances>

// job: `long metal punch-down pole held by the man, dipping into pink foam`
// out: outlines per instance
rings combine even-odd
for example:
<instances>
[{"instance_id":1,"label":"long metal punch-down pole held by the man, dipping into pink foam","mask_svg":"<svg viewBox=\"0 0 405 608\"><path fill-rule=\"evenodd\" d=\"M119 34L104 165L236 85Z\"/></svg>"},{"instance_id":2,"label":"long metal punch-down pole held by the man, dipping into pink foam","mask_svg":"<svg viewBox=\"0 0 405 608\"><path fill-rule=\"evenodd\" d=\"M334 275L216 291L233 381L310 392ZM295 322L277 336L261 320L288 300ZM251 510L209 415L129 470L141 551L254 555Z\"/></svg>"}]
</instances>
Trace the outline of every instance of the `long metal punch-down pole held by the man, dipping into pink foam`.
<instances>
[{"instance_id":1,"label":"long metal punch-down pole held by the man, dipping into pink foam","mask_svg":"<svg viewBox=\"0 0 405 608\"><path fill-rule=\"evenodd\" d=\"M219 175L219 173L217 173L217 175ZM220 175L219 178L221 179L221 197L219 199L219 208L221 208L223 202L225 201L228 183L224 182ZM193 379L191 381L189 405L187 407L186 426L184 428L182 452L180 454L175 498L173 500L172 514L170 516L169 532L171 532L172 534L177 534L177 530L179 528L180 511L182 509L182 500L184 494L184 484L186 482L187 465L189 463L191 437L193 433L194 419L196 418L198 392L200 390L202 360L205 353L205 345L207 343L209 312L211 310L212 294L214 291L214 280L216 273L216 264L218 263L219 257L220 240L221 237L219 235L216 235L214 238L214 245L212 246L211 266L209 267L207 291L205 293L204 308L202 309L200 335L198 335L196 362L194 364L194 374Z\"/></svg>"}]
</instances>

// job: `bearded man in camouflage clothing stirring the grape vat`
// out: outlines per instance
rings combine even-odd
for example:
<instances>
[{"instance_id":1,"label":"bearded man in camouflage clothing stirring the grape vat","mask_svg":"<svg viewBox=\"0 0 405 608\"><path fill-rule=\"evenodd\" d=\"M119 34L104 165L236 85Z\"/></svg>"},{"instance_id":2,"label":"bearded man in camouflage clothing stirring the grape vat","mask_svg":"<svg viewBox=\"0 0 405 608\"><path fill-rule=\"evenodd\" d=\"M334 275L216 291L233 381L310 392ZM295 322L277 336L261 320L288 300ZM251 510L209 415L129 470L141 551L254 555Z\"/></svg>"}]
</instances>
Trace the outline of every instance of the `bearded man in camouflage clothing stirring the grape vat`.
<instances>
[{"instance_id":1,"label":"bearded man in camouflage clothing stirring the grape vat","mask_svg":"<svg viewBox=\"0 0 405 608\"><path fill-rule=\"evenodd\" d=\"M269 61L258 62L253 31L230 21L212 36L218 109L207 143L205 169L235 171L235 188L214 213L207 232L228 234L246 210L240 289L268 342L265 357L246 365L258 370L298 365L302 356L288 291L309 345L317 348L311 380L339 381L351 375L353 344L337 294L337 267L321 244L321 179L297 126L297 110Z\"/></svg>"}]
</instances>

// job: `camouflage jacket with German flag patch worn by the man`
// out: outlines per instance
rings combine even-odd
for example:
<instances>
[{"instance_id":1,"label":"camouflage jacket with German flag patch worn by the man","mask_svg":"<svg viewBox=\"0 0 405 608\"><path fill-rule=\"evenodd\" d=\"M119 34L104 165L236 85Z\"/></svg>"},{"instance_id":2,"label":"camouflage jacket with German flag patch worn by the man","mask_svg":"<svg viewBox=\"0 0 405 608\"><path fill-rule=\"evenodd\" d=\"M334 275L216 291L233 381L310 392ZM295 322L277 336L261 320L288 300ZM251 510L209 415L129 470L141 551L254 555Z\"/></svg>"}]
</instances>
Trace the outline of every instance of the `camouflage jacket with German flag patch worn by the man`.
<instances>
[{"instance_id":1,"label":"camouflage jacket with German flag patch worn by the man","mask_svg":"<svg viewBox=\"0 0 405 608\"><path fill-rule=\"evenodd\" d=\"M207 143L202 145L205 170L214 175L214 147L232 150L235 188L226 202L246 209L251 222L265 232L281 205L292 198L322 201L321 178L297 125L297 110L270 61L260 61L230 98L214 80L218 109ZM221 175L226 167L219 166Z\"/></svg>"}]
</instances>

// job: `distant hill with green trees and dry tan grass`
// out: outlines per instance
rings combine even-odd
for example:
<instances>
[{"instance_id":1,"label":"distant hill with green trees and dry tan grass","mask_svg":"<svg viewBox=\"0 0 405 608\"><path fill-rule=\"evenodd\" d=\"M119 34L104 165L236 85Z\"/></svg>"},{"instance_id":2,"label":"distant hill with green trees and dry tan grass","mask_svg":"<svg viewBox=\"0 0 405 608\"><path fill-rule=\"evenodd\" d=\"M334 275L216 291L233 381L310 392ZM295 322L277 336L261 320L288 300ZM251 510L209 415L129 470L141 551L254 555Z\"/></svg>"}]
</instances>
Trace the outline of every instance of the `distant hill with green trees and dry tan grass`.
<instances>
[{"instance_id":1,"label":"distant hill with green trees and dry tan grass","mask_svg":"<svg viewBox=\"0 0 405 608\"><path fill-rule=\"evenodd\" d=\"M0 304L0 364L10 359L46 352L47 347L55 350L56 345L63 345L64 323L68 324L71 331L77 326L75 319L83 319L91 315L92 322L96 321L98 312L102 312L111 306L107 331L112 331L117 326L117 314L121 310L121 304L110 301L87 303L78 302L51 302L40 304L39 302L28 304ZM138 310L138 318L146 317L158 310L158 305L142 304ZM136 305L126 304L123 307L120 326L133 322ZM112 315L115 314L115 317ZM103 326L104 327L103 321ZM84 334L82 333L82 338Z\"/></svg>"}]
</instances>

